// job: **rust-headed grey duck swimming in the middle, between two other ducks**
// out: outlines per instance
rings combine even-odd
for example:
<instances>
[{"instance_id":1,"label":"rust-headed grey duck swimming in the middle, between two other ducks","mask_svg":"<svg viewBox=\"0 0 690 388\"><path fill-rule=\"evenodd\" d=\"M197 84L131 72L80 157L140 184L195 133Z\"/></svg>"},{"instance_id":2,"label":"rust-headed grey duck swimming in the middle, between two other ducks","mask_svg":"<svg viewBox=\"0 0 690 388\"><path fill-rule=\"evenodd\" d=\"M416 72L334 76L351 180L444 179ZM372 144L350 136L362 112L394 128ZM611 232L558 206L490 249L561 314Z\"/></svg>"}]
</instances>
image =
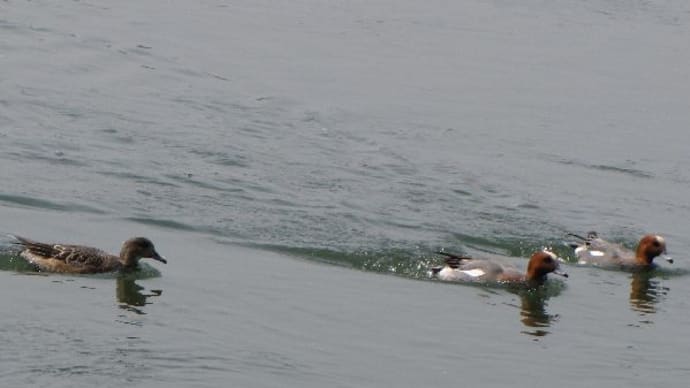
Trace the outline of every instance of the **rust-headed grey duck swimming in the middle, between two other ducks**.
<instances>
[{"instance_id":1,"label":"rust-headed grey duck swimming in the middle, between two other ducks","mask_svg":"<svg viewBox=\"0 0 690 388\"><path fill-rule=\"evenodd\" d=\"M430 272L432 277L444 281L520 283L535 287L544 284L549 273L568 277L568 274L559 268L558 256L546 249L532 254L526 273L489 259L475 259L447 252L437 253L446 257L445 264L432 267Z\"/></svg>"}]
</instances>

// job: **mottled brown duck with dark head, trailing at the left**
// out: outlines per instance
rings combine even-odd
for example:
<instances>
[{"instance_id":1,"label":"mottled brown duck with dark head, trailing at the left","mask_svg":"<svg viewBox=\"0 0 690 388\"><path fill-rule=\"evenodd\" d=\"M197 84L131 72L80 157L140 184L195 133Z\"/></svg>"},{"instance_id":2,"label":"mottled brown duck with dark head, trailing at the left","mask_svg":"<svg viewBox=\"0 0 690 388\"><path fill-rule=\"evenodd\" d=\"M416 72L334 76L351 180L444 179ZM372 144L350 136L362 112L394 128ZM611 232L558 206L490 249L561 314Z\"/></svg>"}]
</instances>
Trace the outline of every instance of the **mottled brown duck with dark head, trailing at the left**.
<instances>
[{"instance_id":1,"label":"mottled brown duck with dark head, trailing at the left","mask_svg":"<svg viewBox=\"0 0 690 388\"><path fill-rule=\"evenodd\" d=\"M41 272L90 274L131 271L137 268L142 258L150 258L163 264L168 262L156 252L151 240L145 237L133 237L125 241L119 256L83 245L47 244L25 237L12 237L17 241L15 244L23 248L20 256Z\"/></svg>"}]
</instances>

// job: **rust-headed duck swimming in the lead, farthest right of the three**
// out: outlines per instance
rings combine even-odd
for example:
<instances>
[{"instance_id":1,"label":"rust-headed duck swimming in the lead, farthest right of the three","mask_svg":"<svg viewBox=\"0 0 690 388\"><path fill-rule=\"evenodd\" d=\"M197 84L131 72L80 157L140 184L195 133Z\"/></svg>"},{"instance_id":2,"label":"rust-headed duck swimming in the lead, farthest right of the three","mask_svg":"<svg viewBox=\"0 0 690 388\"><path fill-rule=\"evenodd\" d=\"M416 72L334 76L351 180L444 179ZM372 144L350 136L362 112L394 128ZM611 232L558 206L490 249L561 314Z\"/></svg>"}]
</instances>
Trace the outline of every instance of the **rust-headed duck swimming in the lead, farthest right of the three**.
<instances>
[{"instance_id":1,"label":"rust-headed duck swimming in the lead, farthest right of the three","mask_svg":"<svg viewBox=\"0 0 690 388\"><path fill-rule=\"evenodd\" d=\"M649 269L656 266L654 263L656 257L673 263L673 258L666 254L666 240L658 234L642 236L634 251L621 244L602 239L595 231L587 233L584 237L574 233L568 233L568 235L579 240L567 243L573 248L578 264L624 269Z\"/></svg>"}]
</instances>

